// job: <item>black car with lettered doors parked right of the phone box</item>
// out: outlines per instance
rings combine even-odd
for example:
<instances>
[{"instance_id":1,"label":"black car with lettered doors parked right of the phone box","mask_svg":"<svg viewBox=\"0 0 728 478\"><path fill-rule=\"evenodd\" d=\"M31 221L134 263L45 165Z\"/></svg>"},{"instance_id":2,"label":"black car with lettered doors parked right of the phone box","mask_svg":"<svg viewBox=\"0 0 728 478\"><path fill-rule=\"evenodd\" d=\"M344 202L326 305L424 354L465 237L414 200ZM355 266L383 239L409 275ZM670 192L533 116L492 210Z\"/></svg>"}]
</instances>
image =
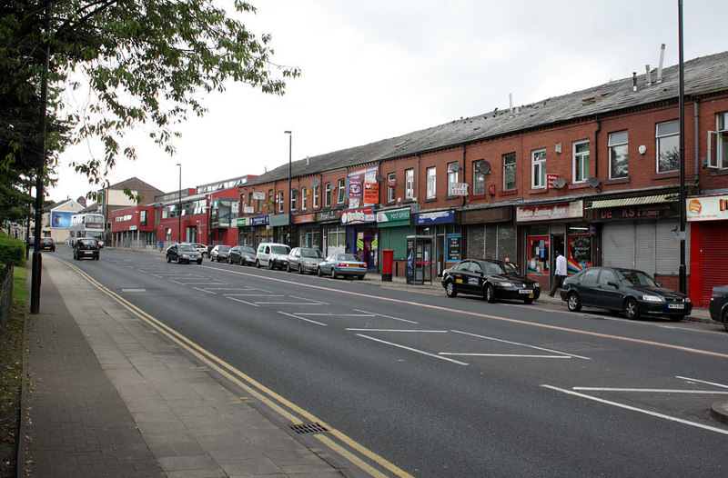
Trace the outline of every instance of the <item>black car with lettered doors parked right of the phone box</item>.
<instances>
[{"instance_id":1,"label":"black car with lettered doors parked right of the phone box","mask_svg":"<svg viewBox=\"0 0 728 478\"><path fill-rule=\"evenodd\" d=\"M490 303L516 299L531 304L541 295L539 283L524 277L513 264L505 261L460 261L442 272L442 286L448 297L475 294Z\"/></svg>"}]
</instances>

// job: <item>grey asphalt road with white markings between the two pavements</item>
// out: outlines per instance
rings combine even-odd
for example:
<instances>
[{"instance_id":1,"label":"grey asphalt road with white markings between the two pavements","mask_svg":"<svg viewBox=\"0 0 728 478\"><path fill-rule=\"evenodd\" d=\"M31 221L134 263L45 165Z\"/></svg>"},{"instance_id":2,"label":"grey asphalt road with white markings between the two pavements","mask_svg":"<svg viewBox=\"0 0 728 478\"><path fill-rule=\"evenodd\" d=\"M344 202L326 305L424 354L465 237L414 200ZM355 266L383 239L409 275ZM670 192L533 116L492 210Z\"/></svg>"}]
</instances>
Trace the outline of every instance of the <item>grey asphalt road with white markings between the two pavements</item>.
<instances>
[{"instance_id":1,"label":"grey asphalt road with white markings between the two pavements","mask_svg":"<svg viewBox=\"0 0 728 478\"><path fill-rule=\"evenodd\" d=\"M728 426L709 415L728 335L713 325L56 254L415 476L728 475Z\"/></svg>"}]
</instances>

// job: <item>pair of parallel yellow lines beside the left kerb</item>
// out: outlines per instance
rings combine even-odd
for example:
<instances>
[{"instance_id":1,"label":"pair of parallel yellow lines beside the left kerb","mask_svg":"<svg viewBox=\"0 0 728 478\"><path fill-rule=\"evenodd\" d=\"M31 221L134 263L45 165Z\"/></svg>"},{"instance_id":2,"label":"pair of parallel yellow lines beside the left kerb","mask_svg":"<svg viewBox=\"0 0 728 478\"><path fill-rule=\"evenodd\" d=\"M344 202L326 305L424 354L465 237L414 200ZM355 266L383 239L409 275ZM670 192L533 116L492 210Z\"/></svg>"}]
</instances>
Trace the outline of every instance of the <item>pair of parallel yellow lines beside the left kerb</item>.
<instances>
[{"instance_id":1,"label":"pair of parallel yellow lines beside the left kerb","mask_svg":"<svg viewBox=\"0 0 728 478\"><path fill-rule=\"evenodd\" d=\"M369 457L370 460L372 460L375 463L378 463L383 468L389 470L389 472L394 473L395 475L399 476L400 478L412 478L410 473L405 472L404 470L401 470L397 465L394 463L390 463L385 458L379 456L379 454L374 453L370 451L368 448L364 447L363 445L355 442L351 438L349 438L348 435L339 432L339 430L335 429L334 427L330 426L328 423L324 422L323 420L320 420L316 415L312 413L308 413L306 410L300 408L295 403L289 402L286 398L282 397L278 393L273 392L272 390L268 389L268 387L264 386L262 383L259 383L252 377L249 377L247 374L240 372L236 367L230 365L229 363L225 362L224 360L217 357L215 354L211 354L207 351L207 349L197 345L196 343L189 340L185 335L179 334L175 329L167 326L167 324L164 324L154 318L152 315L147 314L143 310L136 307L136 305L130 303L126 299L124 299L122 296L115 294L110 289L108 289L105 285L99 283L91 277L89 274L86 274L82 269L78 268L76 265L68 263L67 261L63 259L58 259L61 263L66 264L68 267L76 271L76 274L79 274L81 277L86 279L86 282L89 284L92 284L96 289L101 291L102 293L106 294L108 297L110 297L113 301L115 301L117 304L120 304L122 307L126 308L126 310L133 315L136 315L141 321L147 323L149 326L151 326L154 329L157 329L157 331L161 332L162 334L166 335L167 338L169 338L172 342L179 345L183 349L185 349L190 354L197 357L198 360L200 360L203 363L207 363L207 365L217 371L217 373L220 373L223 377L227 378L232 383L237 384L240 388L245 390L246 392L250 393L251 395L255 396L260 400L262 403L265 403L270 407L271 410L274 412L280 414L283 418L287 419L291 422L291 424L301 424L302 421L293 413L298 413L298 415L302 416L306 421L313 422L313 423L320 423L325 428L329 429L329 433L332 436L335 436L338 438L342 443L346 443L351 449L357 451L358 453L361 453L367 457ZM220 269L224 270L224 269ZM280 404L278 404L280 403ZM288 412L288 410L284 409L283 407L288 408L291 412Z\"/></svg>"}]
</instances>

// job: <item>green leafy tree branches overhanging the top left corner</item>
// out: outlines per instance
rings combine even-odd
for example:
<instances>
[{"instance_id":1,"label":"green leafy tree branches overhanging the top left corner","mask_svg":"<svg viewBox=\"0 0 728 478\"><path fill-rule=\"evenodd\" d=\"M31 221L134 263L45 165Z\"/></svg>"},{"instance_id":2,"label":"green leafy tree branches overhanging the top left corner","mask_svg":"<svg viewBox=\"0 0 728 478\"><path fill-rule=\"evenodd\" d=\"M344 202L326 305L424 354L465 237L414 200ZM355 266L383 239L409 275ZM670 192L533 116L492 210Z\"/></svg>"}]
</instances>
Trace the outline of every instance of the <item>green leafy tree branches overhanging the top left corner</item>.
<instances>
[{"instance_id":1,"label":"green leafy tree branches overhanging the top left corner","mask_svg":"<svg viewBox=\"0 0 728 478\"><path fill-rule=\"evenodd\" d=\"M253 5L229 0L0 0L0 167L27 172L40 160L40 84L50 52L47 164L68 144L99 138L103 158L75 164L102 183L120 154L124 134L152 125L152 139L174 153L177 125L204 115L205 94L242 82L282 95L298 68L275 65L270 35L248 31L240 18ZM85 82L79 81L79 78ZM82 112L64 91L89 88Z\"/></svg>"}]
</instances>

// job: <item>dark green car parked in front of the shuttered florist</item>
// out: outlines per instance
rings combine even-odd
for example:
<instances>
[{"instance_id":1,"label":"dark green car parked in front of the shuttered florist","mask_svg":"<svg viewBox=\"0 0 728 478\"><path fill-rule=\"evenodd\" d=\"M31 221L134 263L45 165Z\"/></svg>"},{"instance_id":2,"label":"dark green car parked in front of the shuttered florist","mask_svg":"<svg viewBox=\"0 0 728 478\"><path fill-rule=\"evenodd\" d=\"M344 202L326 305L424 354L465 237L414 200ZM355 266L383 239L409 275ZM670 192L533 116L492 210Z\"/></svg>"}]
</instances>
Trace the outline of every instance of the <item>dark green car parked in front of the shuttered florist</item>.
<instances>
[{"instance_id":1,"label":"dark green car parked in front of the shuttered florist","mask_svg":"<svg viewBox=\"0 0 728 478\"><path fill-rule=\"evenodd\" d=\"M662 287L650 274L620 267L590 267L567 277L561 300L571 312L597 307L614 314L623 312L628 319L662 315L678 322L693 311L686 294Z\"/></svg>"}]
</instances>

